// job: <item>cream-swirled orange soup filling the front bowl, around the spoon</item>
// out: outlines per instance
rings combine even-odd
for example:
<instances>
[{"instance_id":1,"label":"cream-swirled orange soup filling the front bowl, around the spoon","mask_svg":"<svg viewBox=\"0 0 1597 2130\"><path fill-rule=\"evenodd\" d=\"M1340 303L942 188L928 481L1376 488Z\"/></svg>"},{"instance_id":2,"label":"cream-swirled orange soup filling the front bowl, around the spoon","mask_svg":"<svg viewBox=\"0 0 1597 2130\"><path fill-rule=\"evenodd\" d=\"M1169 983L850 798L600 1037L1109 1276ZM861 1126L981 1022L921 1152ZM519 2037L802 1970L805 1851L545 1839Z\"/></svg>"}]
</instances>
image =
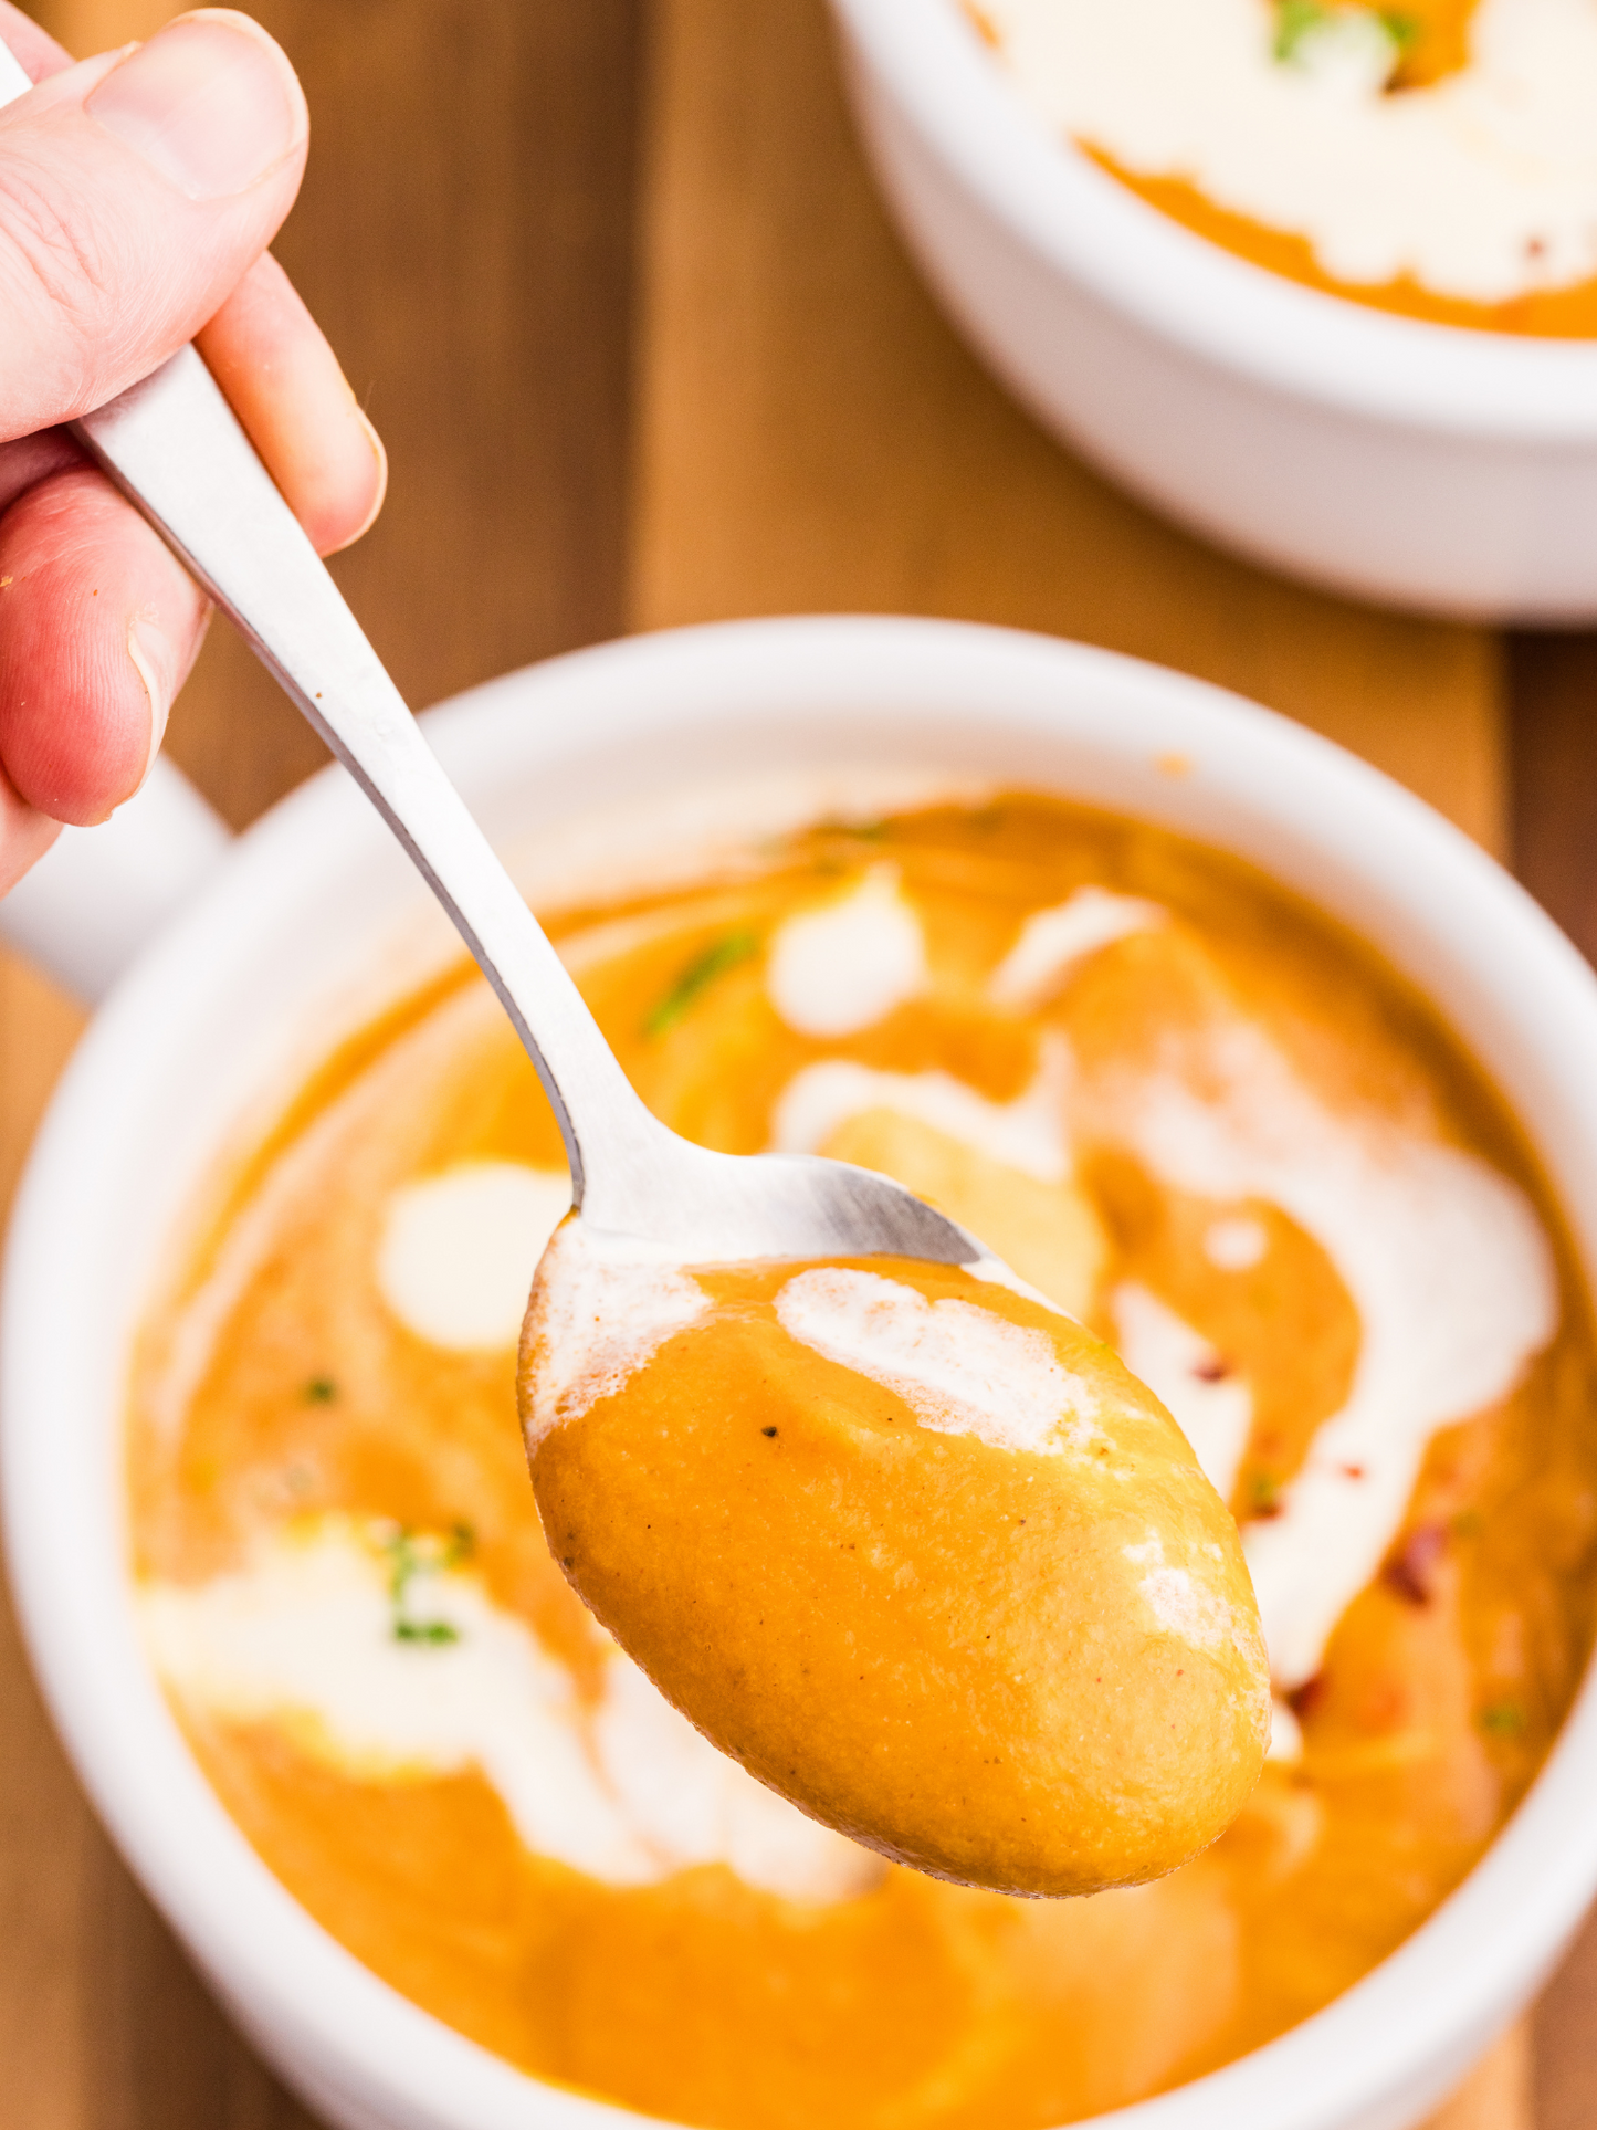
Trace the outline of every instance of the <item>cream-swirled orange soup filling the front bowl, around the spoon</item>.
<instances>
[{"instance_id":1,"label":"cream-swirled orange soup filling the front bowl, around the spoon","mask_svg":"<svg viewBox=\"0 0 1597 2130\"><path fill-rule=\"evenodd\" d=\"M145 1327L151 1659L311 1915L543 2077L715 2130L1039 2130L1190 2079L1412 1932L1569 1704L1597 1440L1557 1210L1405 986L1178 837L1001 794L656 878L549 914L652 1108L896 1176L1180 1421L1271 1653L1241 1817L1129 1891L950 1885L607 1640L515 1416L560 1140L466 969L311 1080Z\"/></svg>"}]
</instances>

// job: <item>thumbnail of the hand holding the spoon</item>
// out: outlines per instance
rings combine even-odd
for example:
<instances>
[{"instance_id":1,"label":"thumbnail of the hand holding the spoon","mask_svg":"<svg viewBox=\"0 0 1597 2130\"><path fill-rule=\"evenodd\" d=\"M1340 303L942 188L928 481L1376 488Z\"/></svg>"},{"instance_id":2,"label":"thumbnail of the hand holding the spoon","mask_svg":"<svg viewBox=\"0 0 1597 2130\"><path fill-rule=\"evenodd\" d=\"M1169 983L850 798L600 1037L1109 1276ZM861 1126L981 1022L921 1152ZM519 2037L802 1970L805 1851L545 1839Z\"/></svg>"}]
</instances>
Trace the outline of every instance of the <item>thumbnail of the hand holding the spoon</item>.
<instances>
[{"instance_id":1,"label":"thumbnail of the hand holding the spoon","mask_svg":"<svg viewBox=\"0 0 1597 2130\"><path fill-rule=\"evenodd\" d=\"M190 200L247 192L309 130L294 68L230 9L168 23L83 109Z\"/></svg>"}]
</instances>

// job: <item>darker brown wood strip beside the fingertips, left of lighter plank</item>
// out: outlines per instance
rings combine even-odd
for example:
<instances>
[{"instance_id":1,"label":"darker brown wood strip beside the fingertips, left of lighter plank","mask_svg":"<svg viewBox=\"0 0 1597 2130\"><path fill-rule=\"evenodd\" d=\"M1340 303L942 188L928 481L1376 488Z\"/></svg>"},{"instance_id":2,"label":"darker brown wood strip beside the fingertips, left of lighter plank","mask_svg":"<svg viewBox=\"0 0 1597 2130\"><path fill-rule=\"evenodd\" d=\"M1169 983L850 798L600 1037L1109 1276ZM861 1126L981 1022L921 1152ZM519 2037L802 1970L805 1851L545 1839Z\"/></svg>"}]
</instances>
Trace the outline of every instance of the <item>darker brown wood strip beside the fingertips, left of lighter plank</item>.
<instances>
[{"instance_id":1,"label":"darker brown wood strip beside the fingertips, left of lighter plank","mask_svg":"<svg viewBox=\"0 0 1597 2130\"><path fill-rule=\"evenodd\" d=\"M260 0L313 113L273 247L390 454L332 571L422 707L624 616L643 0ZM166 0L51 0L72 51ZM241 826L326 756L226 626L168 748Z\"/></svg>"}]
</instances>

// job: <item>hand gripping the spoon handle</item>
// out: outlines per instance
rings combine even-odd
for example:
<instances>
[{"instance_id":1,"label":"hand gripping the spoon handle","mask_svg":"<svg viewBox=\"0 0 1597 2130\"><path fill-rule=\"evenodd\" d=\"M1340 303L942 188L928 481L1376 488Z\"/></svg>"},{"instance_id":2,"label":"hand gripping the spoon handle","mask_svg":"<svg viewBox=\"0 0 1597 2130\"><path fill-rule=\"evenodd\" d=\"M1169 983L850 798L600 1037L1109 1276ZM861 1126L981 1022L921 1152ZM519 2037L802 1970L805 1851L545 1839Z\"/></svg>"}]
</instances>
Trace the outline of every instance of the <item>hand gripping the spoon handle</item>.
<instances>
[{"instance_id":1,"label":"hand gripping the spoon handle","mask_svg":"<svg viewBox=\"0 0 1597 2130\"><path fill-rule=\"evenodd\" d=\"M9 0L36 87L0 111L0 892L62 822L138 790L209 605L57 424L194 339L322 554L383 501L383 447L266 253L304 96L230 9L72 66Z\"/></svg>"}]
</instances>

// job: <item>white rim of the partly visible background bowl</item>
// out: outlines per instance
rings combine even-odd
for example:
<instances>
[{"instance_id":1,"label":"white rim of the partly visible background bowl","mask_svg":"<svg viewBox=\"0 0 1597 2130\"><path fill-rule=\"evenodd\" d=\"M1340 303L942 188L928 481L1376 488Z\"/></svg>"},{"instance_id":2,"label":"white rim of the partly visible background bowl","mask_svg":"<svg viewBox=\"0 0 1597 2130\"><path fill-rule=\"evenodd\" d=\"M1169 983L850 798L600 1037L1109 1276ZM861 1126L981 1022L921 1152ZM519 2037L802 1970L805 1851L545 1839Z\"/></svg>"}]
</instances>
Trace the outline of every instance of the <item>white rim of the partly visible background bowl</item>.
<instances>
[{"instance_id":1,"label":"white rim of the partly visible background bowl","mask_svg":"<svg viewBox=\"0 0 1597 2130\"><path fill-rule=\"evenodd\" d=\"M1054 134L958 0L830 0L873 81L1050 273L1269 392L1429 437L1597 443L1597 339L1446 326L1288 281L1186 230Z\"/></svg>"}]
</instances>

